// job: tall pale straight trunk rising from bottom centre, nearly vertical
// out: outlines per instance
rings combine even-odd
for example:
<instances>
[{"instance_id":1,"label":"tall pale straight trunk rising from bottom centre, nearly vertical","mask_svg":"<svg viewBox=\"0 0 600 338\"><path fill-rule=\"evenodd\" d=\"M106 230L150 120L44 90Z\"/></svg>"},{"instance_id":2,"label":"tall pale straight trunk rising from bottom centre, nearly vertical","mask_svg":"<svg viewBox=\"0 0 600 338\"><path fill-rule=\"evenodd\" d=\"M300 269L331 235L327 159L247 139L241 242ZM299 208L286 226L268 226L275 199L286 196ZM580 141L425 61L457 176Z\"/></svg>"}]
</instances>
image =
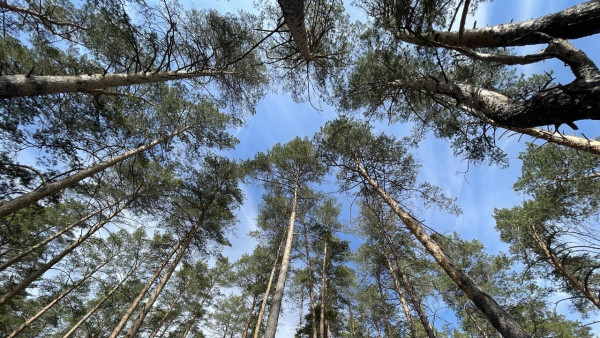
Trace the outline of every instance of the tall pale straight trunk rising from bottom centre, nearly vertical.
<instances>
[{"instance_id":1,"label":"tall pale straight trunk rising from bottom centre, nearly vertical","mask_svg":"<svg viewBox=\"0 0 600 338\"><path fill-rule=\"evenodd\" d=\"M277 332L279 311L281 310L283 290L285 288L287 272L290 268L290 254L292 252L292 244L294 241L294 223L296 222L296 204L298 203L299 188L298 185L298 176L296 176L296 182L294 184L294 196L292 199L292 212L290 214L290 222L288 225L288 234L285 241L285 248L283 250L283 257L281 258L281 269L279 270L279 276L277 276L277 284L275 285L273 298L271 298L271 307L269 308L269 318L267 318L265 338L275 338L275 333Z\"/></svg>"}]
</instances>

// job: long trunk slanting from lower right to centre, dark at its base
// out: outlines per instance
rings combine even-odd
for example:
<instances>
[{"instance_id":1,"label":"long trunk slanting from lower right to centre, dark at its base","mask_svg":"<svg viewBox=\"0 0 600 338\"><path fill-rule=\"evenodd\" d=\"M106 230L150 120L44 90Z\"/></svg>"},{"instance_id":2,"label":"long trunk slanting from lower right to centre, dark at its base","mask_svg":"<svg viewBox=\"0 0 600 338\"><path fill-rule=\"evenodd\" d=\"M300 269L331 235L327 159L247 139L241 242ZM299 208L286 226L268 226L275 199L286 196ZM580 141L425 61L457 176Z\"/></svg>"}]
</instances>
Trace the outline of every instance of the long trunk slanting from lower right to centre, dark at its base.
<instances>
[{"instance_id":1,"label":"long trunk slanting from lower right to centre, dark at its base","mask_svg":"<svg viewBox=\"0 0 600 338\"><path fill-rule=\"evenodd\" d=\"M448 276L465 292L467 297L473 301L475 306L488 318L490 323L504 337L521 338L529 337L519 324L500 306L496 301L485 293L471 277L469 277L450 257L448 257L442 248L429 237L423 230L419 222L400 208L390 195L388 195L373 180L360 163L356 163L359 174L368 182L369 185L381 196L381 198L390 206L392 211L398 215L404 225L415 238L427 249L436 262L446 271Z\"/></svg>"}]
</instances>

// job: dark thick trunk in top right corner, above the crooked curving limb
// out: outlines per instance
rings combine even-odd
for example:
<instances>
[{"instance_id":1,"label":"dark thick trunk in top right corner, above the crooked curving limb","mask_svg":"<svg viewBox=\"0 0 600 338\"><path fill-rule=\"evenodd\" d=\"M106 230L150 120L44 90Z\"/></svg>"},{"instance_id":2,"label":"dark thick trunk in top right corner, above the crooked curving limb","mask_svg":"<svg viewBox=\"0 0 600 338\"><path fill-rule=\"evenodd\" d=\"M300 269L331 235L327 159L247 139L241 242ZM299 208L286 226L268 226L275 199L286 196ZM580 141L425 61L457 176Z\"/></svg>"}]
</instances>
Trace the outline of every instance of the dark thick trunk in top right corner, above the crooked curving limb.
<instances>
[{"instance_id":1,"label":"dark thick trunk in top right corner, above the crooked curving limb","mask_svg":"<svg viewBox=\"0 0 600 338\"><path fill-rule=\"evenodd\" d=\"M597 33L600 33L600 3L588 1L537 19L465 30L462 45L469 48L526 46L545 43L543 35L577 39ZM459 46L458 32L433 31L422 36L396 32L396 38L419 45L431 45L429 41L433 41Z\"/></svg>"}]
</instances>

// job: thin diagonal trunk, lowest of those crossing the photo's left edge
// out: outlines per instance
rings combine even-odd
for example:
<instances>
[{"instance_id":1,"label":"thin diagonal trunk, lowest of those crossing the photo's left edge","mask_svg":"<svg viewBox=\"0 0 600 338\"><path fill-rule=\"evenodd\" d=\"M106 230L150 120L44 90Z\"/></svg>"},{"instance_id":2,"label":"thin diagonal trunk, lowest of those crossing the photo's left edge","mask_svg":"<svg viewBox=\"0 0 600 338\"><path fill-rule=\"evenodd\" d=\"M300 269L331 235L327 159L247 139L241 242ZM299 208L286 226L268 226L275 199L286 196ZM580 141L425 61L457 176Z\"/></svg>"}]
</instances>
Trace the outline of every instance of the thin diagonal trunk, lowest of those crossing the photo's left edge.
<instances>
[{"instance_id":1,"label":"thin diagonal trunk, lowest of those crossing the photo's left edge","mask_svg":"<svg viewBox=\"0 0 600 338\"><path fill-rule=\"evenodd\" d=\"M121 211L123 211L125 208L127 208L127 206L129 206L129 204L131 204L131 202L133 202L133 200L134 199L132 198L132 199L128 200L127 202L125 202L125 204L123 204L121 207L119 207L119 209L115 210L115 212L110 214L105 220L96 224L85 235L81 236L79 239L77 239L76 241L71 243L71 245L69 245L61 253L54 256L48 263L44 264L41 268L39 268L34 273L29 275L27 278L25 278L23 281L21 281L21 283L19 283L17 286L12 288L9 292L2 295L2 297L0 297L0 305L6 303L9 299L11 299L15 295L17 295L19 292L25 290L25 288L28 287L33 281L35 281L40 276L42 276L46 271L50 270L50 268L52 268L56 263L60 262L66 255L68 255L73 250L75 250L79 245L81 245L81 243L83 243L85 240L87 240L96 231L100 230L107 223L109 223L115 216L117 216Z\"/></svg>"}]
</instances>

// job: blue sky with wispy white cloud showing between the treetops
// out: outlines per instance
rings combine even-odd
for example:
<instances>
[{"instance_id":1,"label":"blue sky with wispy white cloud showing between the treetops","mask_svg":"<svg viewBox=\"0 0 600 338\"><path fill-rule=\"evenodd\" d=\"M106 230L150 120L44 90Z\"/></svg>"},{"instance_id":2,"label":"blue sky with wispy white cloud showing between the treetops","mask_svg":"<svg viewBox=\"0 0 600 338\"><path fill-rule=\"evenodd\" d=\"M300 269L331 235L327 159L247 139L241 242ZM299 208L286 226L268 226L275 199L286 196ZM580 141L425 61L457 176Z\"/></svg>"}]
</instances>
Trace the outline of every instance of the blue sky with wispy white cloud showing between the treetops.
<instances>
[{"instance_id":1,"label":"blue sky with wispy white cloud showing between the treetops","mask_svg":"<svg viewBox=\"0 0 600 338\"><path fill-rule=\"evenodd\" d=\"M507 23L511 20L523 21L536 18L545 14L554 13L564 8L577 4L579 1L567 0L502 0L487 2L480 6L476 15L469 18L466 27L472 27L477 21L477 27ZM196 6L206 6L220 12L236 12L244 9L252 12L249 1L211 1L210 3L194 2ZM347 12L353 20L361 20L365 16L360 9L346 2ZM597 36L572 41L593 60L598 63L600 46ZM544 46L521 48L518 53L534 53ZM534 65L521 67L520 71L526 74L541 73L552 70L557 80L562 83L569 82L573 77L564 64L557 61L545 61ZM240 140L237 148L228 154L233 157L245 159L253 157L256 152L265 152L276 143L285 143L296 136L311 137L326 121L335 118L334 108L322 104L322 110L317 111L309 103L294 102L285 93L270 93L261 100L256 108L256 114L248 116L244 127L235 131ZM578 122L580 131L588 137L596 137L595 132L598 122ZM405 127L392 125L385 127L386 132L397 137L406 136ZM566 134L573 133L565 127ZM524 149L525 142L532 141L528 136L504 135L498 140L498 145L509 155L510 167L501 169L485 164L468 166L467 163L457 159L446 140L427 137L414 151L421 162L420 181L427 181L444 189L449 197L457 199L457 204L463 213L460 216L448 215L436 210L419 210L418 218L424 223L443 234L453 231L458 232L463 239L477 239L481 241L490 254L508 252L508 246L499 240L498 232L494 229L495 221L492 217L494 208L509 208L520 204L526 196L516 194L512 186L520 175L521 163L517 159L518 153ZM326 185L335 190L333 184ZM232 261L243 253L251 253L254 240L246 234L256 228L256 215L261 200L262 190L254 185L244 186L246 200L238 212L239 225L234 234L230 235L231 247L225 248L224 254ZM352 201L344 196L338 196L343 204L343 217L346 222L351 222L358 208L352 206ZM354 239L352 247L360 241ZM557 306L559 312L568 313L567 302ZM287 311L286 311L287 310ZM591 320L590 320L591 321ZM279 320L278 337L292 337L296 329L297 312L284 305L284 316ZM600 327L594 327L600 332Z\"/></svg>"}]
</instances>

